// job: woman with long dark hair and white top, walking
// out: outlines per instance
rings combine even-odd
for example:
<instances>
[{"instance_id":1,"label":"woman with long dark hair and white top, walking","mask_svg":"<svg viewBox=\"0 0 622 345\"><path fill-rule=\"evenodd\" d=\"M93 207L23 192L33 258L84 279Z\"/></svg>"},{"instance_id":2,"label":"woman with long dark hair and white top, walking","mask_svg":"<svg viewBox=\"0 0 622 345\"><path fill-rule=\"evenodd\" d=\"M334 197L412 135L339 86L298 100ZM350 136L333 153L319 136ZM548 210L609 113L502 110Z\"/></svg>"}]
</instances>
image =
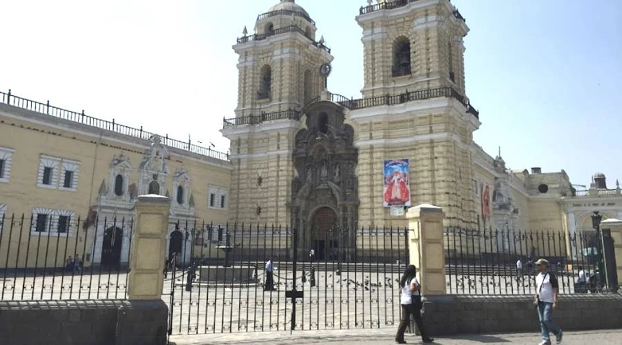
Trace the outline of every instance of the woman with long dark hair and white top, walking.
<instances>
[{"instance_id":1,"label":"woman with long dark hair and white top, walking","mask_svg":"<svg viewBox=\"0 0 622 345\"><path fill-rule=\"evenodd\" d=\"M415 324L419 328L423 342L434 342L434 339L428 337L428 333L426 333L421 320L421 285L416 275L417 269L415 265L410 265L404 271L402 279L399 279L399 303L402 304L402 318L399 320L397 335L395 335L395 342L398 344L406 344L404 341L404 331L406 331L406 326L408 326L408 322L411 320L411 315L415 319Z\"/></svg>"}]
</instances>

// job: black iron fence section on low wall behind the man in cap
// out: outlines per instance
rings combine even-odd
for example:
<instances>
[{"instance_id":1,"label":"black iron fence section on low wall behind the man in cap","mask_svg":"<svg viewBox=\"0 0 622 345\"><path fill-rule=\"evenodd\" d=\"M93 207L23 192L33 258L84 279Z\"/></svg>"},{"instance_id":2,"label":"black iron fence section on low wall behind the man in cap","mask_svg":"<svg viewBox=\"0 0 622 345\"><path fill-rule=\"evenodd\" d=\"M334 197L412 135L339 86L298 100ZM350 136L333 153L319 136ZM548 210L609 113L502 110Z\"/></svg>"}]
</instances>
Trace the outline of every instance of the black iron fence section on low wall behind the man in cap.
<instances>
[{"instance_id":1,"label":"black iron fence section on low wall behind the man in cap","mask_svg":"<svg viewBox=\"0 0 622 345\"><path fill-rule=\"evenodd\" d=\"M445 228L444 236L451 294L534 295L539 258L549 261L560 293L598 293L605 286L594 232Z\"/></svg>"}]
</instances>

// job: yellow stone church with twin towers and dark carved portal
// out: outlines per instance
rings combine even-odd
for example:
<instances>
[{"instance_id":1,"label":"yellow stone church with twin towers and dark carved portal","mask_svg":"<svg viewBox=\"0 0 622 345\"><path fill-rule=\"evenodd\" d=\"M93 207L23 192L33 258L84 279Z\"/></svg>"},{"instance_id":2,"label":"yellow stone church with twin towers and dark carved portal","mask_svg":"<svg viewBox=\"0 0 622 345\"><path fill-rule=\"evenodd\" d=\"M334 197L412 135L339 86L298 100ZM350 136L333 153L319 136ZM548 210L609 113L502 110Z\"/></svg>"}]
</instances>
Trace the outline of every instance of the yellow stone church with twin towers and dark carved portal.
<instances>
[{"instance_id":1,"label":"yellow stone church with twin towers and dark carved portal","mask_svg":"<svg viewBox=\"0 0 622 345\"><path fill-rule=\"evenodd\" d=\"M356 21L361 99L326 88L330 48L293 0L238 38L236 117L222 130L232 221L288 224L313 246L335 228L405 227L404 209L417 204L475 230L572 235L591 230L593 210L622 217L620 189L604 177L577 192L563 170L509 170L473 141L481 122L465 86L469 28L449 0L368 1Z\"/></svg>"}]
</instances>

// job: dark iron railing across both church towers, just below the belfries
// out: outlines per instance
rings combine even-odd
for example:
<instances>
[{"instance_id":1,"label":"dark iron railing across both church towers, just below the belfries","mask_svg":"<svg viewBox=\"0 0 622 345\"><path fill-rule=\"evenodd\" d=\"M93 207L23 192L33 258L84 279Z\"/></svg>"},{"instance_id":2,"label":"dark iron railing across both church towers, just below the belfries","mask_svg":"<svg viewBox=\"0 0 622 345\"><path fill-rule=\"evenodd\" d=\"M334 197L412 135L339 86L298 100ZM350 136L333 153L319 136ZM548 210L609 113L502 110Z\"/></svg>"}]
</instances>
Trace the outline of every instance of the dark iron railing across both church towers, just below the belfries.
<instances>
[{"instance_id":1,"label":"dark iron railing across both church towers, just below the belfries","mask_svg":"<svg viewBox=\"0 0 622 345\"><path fill-rule=\"evenodd\" d=\"M402 104L409 101L417 101L422 99L431 99L437 97L452 97L458 99L463 106L466 107L466 112L473 115L476 119L480 118L480 112L471 106L471 102L468 98L460 95L458 91L453 88L433 88L427 90L408 91L399 95L385 95L370 97L364 99L352 99L342 95L331 94L330 101L338 103L339 105L346 107L350 110L370 108L374 106L392 106L395 104ZM315 97L308 101L304 108L307 108L311 103L319 101L320 97ZM303 109L304 109L303 108ZM246 124L261 124L264 121L272 121L277 119L300 119L301 112L295 110L285 110L279 112L268 112L262 115L249 115L246 117L233 117L231 119L223 119L223 128L229 126L238 126Z\"/></svg>"}]
</instances>

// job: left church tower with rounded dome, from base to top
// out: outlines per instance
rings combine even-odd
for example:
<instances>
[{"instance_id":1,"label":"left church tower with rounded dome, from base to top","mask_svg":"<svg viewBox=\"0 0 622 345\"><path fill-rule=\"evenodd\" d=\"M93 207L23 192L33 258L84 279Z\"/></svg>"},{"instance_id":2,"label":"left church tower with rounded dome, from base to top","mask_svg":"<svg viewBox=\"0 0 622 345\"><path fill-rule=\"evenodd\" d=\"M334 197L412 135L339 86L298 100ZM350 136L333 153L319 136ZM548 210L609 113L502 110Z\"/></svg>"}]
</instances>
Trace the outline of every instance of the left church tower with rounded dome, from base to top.
<instances>
[{"instance_id":1,"label":"left church tower with rounded dome, from base to top","mask_svg":"<svg viewBox=\"0 0 622 345\"><path fill-rule=\"evenodd\" d=\"M305 126L303 106L324 88L321 66L332 61L316 31L301 6L281 0L259 14L253 34L244 28L233 46L238 106L222 132L231 140L229 214L238 224L290 223L294 135Z\"/></svg>"}]
</instances>

